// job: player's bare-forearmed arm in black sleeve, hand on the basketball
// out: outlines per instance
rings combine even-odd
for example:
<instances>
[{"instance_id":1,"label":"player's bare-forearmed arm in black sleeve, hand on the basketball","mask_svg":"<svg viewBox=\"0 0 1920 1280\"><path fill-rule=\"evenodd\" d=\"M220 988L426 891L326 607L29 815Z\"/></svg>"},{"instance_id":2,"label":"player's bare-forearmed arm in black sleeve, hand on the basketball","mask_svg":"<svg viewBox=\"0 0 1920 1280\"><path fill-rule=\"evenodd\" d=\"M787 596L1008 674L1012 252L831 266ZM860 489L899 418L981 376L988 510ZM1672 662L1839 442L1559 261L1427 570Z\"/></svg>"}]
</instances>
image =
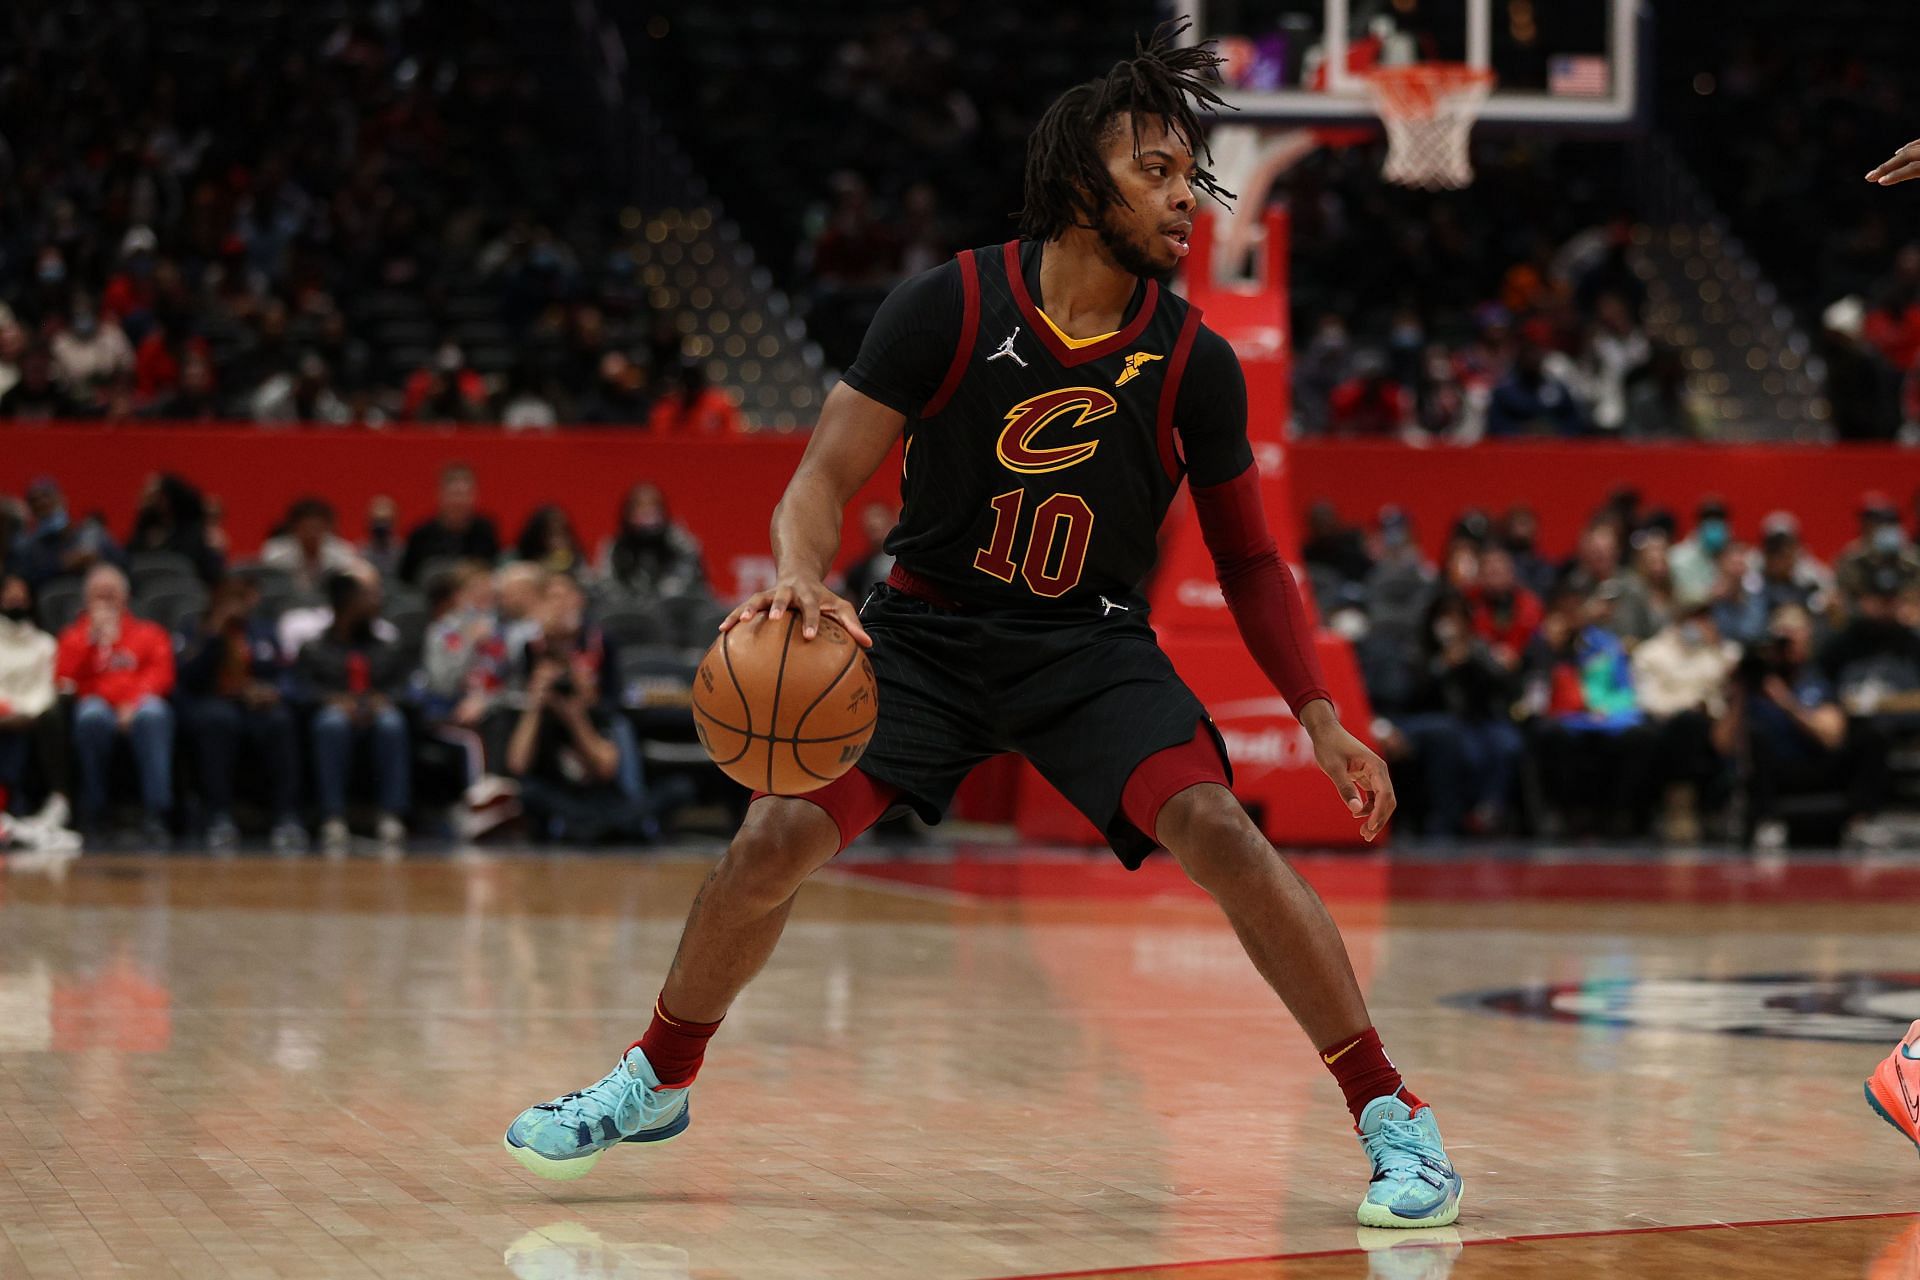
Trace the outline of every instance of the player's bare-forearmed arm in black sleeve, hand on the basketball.
<instances>
[{"instance_id":1,"label":"player's bare-forearmed arm in black sleeve, hand on the basketball","mask_svg":"<svg viewBox=\"0 0 1920 1280\"><path fill-rule=\"evenodd\" d=\"M801 610L801 633L812 639L820 614L831 616L862 645L872 645L858 610L826 587L839 553L847 503L887 459L906 415L933 397L954 359L964 297L954 263L900 284L866 330L860 357L828 393L799 470L774 507L776 583L726 616L726 631L758 612L781 618Z\"/></svg>"}]
</instances>

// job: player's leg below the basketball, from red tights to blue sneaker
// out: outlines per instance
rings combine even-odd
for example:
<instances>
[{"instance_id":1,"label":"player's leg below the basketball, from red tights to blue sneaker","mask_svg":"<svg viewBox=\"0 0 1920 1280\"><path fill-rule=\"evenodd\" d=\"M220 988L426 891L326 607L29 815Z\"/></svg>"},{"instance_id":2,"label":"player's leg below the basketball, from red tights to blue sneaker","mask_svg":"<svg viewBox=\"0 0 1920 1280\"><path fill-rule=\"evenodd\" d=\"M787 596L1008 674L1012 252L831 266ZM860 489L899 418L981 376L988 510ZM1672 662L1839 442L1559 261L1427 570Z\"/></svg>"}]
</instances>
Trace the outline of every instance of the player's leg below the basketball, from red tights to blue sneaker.
<instances>
[{"instance_id":1,"label":"player's leg below the basketball, from red tights to blue sneaker","mask_svg":"<svg viewBox=\"0 0 1920 1280\"><path fill-rule=\"evenodd\" d=\"M507 1151L532 1173L568 1182L612 1146L680 1136L707 1042L774 954L801 883L877 821L895 794L854 770L806 798L758 796L693 898L647 1032L599 1082L522 1111L507 1128Z\"/></svg>"}]
</instances>

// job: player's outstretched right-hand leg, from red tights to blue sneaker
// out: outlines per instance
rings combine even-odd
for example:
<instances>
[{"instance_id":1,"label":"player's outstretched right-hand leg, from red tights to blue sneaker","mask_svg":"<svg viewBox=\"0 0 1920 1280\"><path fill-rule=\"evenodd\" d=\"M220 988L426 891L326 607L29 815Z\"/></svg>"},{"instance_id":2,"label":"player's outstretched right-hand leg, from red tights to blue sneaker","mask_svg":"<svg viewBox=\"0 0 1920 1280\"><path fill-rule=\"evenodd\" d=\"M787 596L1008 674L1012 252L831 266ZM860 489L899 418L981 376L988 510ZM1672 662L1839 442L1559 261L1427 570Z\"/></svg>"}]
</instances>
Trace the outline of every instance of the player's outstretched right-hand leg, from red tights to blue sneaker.
<instances>
[{"instance_id":1,"label":"player's outstretched right-hand leg, from red tights to blue sneaker","mask_svg":"<svg viewBox=\"0 0 1920 1280\"><path fill-rule=\"evenodd\" d=\"M1413 1096L1380 1046L1327 906L1254 827L1225 777L1171 791L1202 771L1202 748L1217 752L1196 737L1142 762L1129 777L1127 819L1154 831L1213 896L1254 967L1319 1046L1373 1163L1361 1224L1446 1226L1459 1217L1461 1178L1432 1107Z\"/></svg>"}]
</instances>

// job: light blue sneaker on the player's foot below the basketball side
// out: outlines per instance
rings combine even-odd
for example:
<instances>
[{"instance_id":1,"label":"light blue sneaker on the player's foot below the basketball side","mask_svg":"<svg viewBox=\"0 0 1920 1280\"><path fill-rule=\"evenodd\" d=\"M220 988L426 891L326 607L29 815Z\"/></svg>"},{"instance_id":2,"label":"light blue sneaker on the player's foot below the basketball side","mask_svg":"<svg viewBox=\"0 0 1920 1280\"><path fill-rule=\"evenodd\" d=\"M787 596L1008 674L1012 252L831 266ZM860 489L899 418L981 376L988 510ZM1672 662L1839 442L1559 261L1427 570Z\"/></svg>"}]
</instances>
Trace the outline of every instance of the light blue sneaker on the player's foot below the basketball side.
<instances>
[{"instance_id":1,"label":"light blue sneaker on the player's foot below the basketball side","mask_svg":"<svg viewBox=\"0 0 1920 1280\"><path fill-rule=\"evenodd\" d=\"M666 1142L685 1132L687 1088L660 1088L636 1044L599 1084L522 1111L507 1126L507 1150L553 1182L586 1176L620 1142Z\"/></svg>"}]
</instances>

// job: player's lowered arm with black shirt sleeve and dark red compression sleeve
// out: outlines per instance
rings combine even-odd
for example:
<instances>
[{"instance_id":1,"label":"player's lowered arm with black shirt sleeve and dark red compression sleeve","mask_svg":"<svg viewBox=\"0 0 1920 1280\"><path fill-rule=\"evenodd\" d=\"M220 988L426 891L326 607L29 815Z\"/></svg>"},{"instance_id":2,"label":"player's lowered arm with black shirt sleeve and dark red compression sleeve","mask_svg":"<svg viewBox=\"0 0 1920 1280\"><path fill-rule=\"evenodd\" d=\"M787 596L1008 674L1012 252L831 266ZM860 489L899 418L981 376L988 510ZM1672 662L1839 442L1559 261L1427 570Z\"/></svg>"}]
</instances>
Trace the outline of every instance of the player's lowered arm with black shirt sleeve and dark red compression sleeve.
<instances>
[{"instance_id":1,"label":"player's lowered arm with black shirt sleeve and dark red compression sleeve","mask_svg":"<svg viewBox=\"0 0 1920 1280\"><path fill-rule=\"evenodd\" d=\"M1394 816L1394 781L1386 762L1340 723L1327 693L1300 583L1260 501L1260 466L1246 441L1246 378L1233 347L1212 330L1202 328L1194 342L1175 422L1200 535L1240 639L1313 739L1315 762L1371 841Z\"/></svg>"}]
</instances>

